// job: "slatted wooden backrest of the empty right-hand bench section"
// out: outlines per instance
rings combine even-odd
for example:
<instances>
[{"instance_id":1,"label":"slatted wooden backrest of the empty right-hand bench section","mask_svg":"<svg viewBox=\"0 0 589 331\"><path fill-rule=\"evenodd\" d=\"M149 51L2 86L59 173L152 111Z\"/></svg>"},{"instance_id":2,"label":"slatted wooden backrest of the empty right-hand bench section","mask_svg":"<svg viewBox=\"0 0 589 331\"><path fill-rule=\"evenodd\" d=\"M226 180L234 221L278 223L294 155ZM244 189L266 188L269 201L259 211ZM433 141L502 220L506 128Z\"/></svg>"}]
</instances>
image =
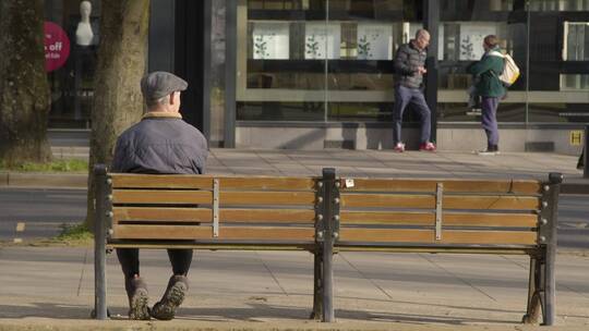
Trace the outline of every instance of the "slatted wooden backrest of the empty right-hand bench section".
<instances>
[{"instance_id":1,"label":"slatted wooden backrest of the empty right-hand bench section","mask_svg":"<svg viewBox=\"0 0 589 331\"><path fill-rule=\"evenodd\" d=\"M539 181L339 179L336 246L533 248Z\"/></svg>"}]
</instances>

